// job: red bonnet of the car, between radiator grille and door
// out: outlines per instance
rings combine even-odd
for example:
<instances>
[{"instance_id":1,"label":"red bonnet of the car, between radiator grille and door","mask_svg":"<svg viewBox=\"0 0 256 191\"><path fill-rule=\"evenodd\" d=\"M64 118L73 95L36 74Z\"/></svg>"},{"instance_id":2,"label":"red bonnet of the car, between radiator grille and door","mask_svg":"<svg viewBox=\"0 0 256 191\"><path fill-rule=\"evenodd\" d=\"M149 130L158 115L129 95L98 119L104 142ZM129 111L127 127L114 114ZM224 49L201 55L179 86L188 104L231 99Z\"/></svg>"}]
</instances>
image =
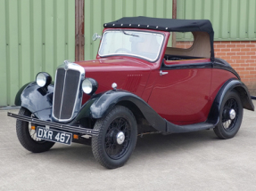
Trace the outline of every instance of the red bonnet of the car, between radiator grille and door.
<instances>
[{"instance_id":1,"label":"red bonnet of the car, between radiator grille and door","mask_svg":"<svg viewBox=\"0 0 256 191\"><path fill-rule=\"evenodd\" d=\"M111 57L107 59L76 62L86 70L86 77L94 78L98 83L95 93L111 90L111 84L118 84L118 89L127 90L142 96L151 65L145 60L131 57ZM136 83L136 86L133 85ZM84 94L82 104L90 97Z\"/></svg>"}]
</instances>

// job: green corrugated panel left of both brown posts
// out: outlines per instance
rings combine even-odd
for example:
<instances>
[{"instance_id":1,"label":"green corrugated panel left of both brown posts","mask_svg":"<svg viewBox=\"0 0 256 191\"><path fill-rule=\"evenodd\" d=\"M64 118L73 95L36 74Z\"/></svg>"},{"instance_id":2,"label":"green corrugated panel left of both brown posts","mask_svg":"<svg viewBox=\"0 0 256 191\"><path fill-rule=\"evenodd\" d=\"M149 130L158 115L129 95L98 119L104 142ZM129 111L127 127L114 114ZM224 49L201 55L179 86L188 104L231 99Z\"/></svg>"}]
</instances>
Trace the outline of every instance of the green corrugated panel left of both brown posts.
<instances>
[{"instance_id":1,"label":"green corrugated panel left of both brown posts","mask_svg":"<svg viewBox=\"0 0 256 191\"><path fill-rule=\"evenodd\" d=\"M75 1L0 0L0 106L23 84L75 60Z\"/></svg>"}]
</instances>

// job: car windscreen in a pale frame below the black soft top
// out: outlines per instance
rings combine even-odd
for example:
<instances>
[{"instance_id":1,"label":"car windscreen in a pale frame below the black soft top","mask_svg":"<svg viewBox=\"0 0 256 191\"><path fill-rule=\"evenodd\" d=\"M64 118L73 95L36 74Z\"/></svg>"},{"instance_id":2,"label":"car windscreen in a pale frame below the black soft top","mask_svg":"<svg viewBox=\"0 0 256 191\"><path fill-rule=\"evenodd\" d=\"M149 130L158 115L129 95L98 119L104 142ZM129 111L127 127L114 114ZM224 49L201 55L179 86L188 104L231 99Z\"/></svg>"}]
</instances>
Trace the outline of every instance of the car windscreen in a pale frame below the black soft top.
<instances>
[{"instance_id":1,"label":"car windscreen in a pale frame below the black soft top","mask_svg":"<svg viewBox=\"0 0 256 191\"><path fill-rule=\"evenodd\" d=\"M129 55L154 61L158 59L163 35L132 30L105 31L99 49L101 57Z\"/></svg>"}]
</instances>

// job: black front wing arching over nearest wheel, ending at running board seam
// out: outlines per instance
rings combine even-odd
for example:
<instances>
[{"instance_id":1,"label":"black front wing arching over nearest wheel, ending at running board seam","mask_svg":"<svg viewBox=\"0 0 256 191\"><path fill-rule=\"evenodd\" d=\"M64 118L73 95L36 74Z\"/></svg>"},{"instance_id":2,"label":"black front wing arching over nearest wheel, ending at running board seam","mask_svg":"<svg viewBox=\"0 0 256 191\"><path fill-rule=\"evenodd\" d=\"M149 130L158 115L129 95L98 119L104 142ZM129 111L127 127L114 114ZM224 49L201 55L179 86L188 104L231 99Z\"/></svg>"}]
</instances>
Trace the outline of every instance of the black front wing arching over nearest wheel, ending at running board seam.
<instances>
[{"instance_id":1,"label":"black front wing arching over nearest wheel, ending at running board seam","mask_svg":"<svg viewBox=\"0 0 256 191\"><path fill-rule=\"evenodd\" d=\"M120 101L130 101L136 105L145 116L145 119L158 131L166 131L166 121L150 107L144 99L126 91L104 92L90 105L90 115L92 118L99 119L107 115L111 109Z\"/></svg>"}]
</instances>

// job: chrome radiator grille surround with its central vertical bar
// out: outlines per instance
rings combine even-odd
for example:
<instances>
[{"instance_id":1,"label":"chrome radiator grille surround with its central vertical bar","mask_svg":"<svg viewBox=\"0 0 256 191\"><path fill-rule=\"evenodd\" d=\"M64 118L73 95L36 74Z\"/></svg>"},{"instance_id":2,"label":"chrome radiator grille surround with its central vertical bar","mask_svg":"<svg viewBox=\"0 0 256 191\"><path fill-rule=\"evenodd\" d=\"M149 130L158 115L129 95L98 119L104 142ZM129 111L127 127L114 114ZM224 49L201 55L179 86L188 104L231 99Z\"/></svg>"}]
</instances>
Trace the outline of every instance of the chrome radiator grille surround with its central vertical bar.
<instances>
[{"instance_id":1,"label":"chrome radiator grille surround with its central vertical bar","mask_svg":"<svg viewBox=\"0 0 256 191\"><path fill-rule=\"evenodd\" d=\"M81 88L81 84L82 84L83 80L85 79L86 72L85 72L85 69L83 67L79 66L78 64L71 63L68 60L65 60L64 63L56 69L55 82L56 82L57 72L58 72L59 68L64 68L65 69L64 84L66 83L66 74L67 74L67 71L69 69L70 70L76 70L76 71L80 72L77 95L76 95L75 103L74 103L74 106L73 106L72 115L69 119L62 119L62 115L60 115L61 119L58 119L57 117L54 116L54 100L53 100L52 118L54 119L54 121L62 123L62 122L69 122L70 120L72 120L78 114L78 111L81 108L82 98L83 98L83 91L82 91L82 88ZM55 92L55 86L54 86L54 92ZM63 100L63 93L64 93L64 86L63 86L63 92L62 92L62 100ZM61 109L62 109L62 105L61 105L61 108L60 108L60 112L62 111Z\"/></svg>"}]
</instances>

